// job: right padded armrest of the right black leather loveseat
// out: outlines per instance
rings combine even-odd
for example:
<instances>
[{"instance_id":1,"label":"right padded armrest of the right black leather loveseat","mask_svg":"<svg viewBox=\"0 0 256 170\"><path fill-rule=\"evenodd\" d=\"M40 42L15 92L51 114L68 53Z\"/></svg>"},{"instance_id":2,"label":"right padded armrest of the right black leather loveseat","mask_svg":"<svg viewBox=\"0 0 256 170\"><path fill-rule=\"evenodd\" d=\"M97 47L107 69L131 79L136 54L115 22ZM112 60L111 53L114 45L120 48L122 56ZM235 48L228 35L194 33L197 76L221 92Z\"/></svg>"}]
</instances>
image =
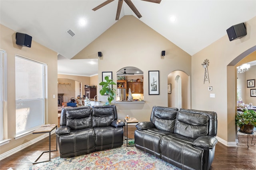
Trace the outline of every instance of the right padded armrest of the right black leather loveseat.
<instances>
[{"instance_id":1,"label":"right padded armrest of the right black leather loveseat","mask_svg":"<svg viewBox=\"0 0 256 170\"><path fill-rule=\"evenodd\" d=\"M200 147L200 148L206 148L206 149L212 149L216 145L218 140L216 137L213 136L200 136L196 140L194 140L193 145L195 147Z\"/></svg>"}]
</instances>

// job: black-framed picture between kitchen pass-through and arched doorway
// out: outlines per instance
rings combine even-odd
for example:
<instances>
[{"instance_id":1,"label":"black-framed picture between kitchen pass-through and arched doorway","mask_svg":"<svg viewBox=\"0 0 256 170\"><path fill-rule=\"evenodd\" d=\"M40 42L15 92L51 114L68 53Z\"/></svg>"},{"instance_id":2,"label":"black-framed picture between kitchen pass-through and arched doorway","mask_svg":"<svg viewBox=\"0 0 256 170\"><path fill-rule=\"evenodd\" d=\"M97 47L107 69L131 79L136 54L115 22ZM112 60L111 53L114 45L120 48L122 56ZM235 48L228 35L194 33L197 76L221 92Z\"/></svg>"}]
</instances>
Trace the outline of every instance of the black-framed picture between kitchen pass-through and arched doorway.
<instances>
[{"instance_id":1,"label":"black-framed picture between kitchen pass-through and arched doorway","mask_svg":"<svg viewBox=\"0 0 256 170\"><path fill-rule=\"evenodd\" d=\"M159 71L148 71L148 94L159 95Z\"/></svg>"}]
</instances>

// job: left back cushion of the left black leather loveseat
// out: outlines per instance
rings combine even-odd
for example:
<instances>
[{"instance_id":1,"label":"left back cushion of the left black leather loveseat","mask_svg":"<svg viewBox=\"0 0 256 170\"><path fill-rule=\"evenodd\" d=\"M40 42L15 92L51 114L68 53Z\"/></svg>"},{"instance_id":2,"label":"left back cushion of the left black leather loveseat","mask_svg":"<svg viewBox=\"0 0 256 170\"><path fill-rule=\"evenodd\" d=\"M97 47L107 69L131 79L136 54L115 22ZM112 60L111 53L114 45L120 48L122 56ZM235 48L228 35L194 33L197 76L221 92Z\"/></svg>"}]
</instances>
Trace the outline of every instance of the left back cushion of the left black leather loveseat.
<instances>
[{"instance_id":1,"label":"left back cushion of the left black leather loveseat","mask_svg":"<svg viewBox=\"0 0 256 170\"><path fill-rule=\"evenodd\" d=\"M66 126L70 127L71 130L92 127L91 109L67 109Z\"/></svg>"}]
</instances>

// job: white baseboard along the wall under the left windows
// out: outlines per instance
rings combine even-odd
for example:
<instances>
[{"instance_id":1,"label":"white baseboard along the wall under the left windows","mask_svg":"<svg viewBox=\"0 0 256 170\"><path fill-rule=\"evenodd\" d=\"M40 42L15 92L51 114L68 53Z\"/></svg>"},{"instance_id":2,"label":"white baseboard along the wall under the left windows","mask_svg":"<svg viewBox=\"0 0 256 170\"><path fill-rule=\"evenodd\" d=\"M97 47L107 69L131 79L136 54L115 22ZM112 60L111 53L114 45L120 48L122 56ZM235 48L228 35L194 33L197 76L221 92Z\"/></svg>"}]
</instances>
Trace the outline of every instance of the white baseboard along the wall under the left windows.
<instances>
[{"instance_id":1,"label":"white baseboard along the wall under the left windows","mask_svg":"<svg viewBox=\"0 0 256 170\"><path fill-rule=\"evenodd\" d=\"M56 131L56 129L54 129L52 132L51 132L51 135L54 134ZM28 141L27 143L24 143L14 149L11 149L7 152L4 152L2 154L0 154L0 160L3 160L4 158L7 158L8 156L11 156L12 154L15 154L16 152L19 152L20 150L22 149L25 149L26 147L29 147L30 145L33 145L34 143L38 142L38 141L41 141L42 139L46 138L46 137L49 137L49 133L45 133L44 135L41 135L40 137L37 137L31 141Z\"/></svg>"}]
</instances>

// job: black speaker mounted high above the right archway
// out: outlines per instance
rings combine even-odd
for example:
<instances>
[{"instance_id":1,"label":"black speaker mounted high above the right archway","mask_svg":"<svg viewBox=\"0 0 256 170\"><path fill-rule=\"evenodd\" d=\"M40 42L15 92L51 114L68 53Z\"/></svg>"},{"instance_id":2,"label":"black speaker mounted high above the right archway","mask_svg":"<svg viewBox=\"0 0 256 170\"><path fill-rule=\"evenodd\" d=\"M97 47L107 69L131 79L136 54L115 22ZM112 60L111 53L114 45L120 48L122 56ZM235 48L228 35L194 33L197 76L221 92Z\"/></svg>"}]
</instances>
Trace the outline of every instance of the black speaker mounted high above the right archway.
<instances>
[{"instance_id":1,"label":"black speaker mounted high above the right archway","mask_svg":"<svg viewBox=\"0 0 256 170\"><path fill-rule=\"evenodd\" d=\"M229 41L239 39L246 35L246 27L244 23L238 23L227 29Z\"/></svg>"}]
</instances>

